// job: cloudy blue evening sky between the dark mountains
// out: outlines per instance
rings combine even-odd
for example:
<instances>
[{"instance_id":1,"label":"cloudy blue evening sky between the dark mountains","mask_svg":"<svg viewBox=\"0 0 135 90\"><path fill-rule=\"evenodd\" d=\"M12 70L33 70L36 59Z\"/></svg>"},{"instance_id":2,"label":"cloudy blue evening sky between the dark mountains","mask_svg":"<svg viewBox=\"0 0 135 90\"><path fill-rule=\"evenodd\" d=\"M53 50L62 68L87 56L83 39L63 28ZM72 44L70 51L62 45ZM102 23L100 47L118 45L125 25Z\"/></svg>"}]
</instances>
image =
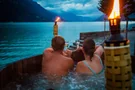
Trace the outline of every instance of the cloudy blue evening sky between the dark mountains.
<instances>
[{"instance_id":1,"label":"cloudy blue evening sky between the dark mountains","mask_svg":"<svg viewBox=\"0 0 135 90\"><path fill-rule=\"evenodd\" d=\"M56 13L70 12L77 16L99 17L97 9L99 0L33 0L43 8Z\"/></svg>"}]
</instances>

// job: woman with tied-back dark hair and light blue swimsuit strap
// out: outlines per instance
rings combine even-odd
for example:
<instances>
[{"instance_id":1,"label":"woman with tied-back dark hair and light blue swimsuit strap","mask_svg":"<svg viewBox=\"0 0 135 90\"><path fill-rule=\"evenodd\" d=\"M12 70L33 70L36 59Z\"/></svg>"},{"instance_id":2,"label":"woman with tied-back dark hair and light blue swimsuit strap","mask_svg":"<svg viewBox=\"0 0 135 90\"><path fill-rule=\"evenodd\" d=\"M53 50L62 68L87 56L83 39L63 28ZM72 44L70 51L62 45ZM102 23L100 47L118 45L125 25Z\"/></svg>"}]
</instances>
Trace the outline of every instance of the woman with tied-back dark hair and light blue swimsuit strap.
<instances>
[{"instance_id":1,"label":"woman with tied-back dark hair and light blue swimsuit strap","mask_svg":"<svg viewBox=\"0 0 135 90\"><path fill-rule=\"evenodd\" d=\"M103 70L101 55L104 52L102 46L95 46L95 42L91 39L85 39L82 51L85 60L77 63L76 72L80 74L97 75Z\"/></svg>"}]
</instances>

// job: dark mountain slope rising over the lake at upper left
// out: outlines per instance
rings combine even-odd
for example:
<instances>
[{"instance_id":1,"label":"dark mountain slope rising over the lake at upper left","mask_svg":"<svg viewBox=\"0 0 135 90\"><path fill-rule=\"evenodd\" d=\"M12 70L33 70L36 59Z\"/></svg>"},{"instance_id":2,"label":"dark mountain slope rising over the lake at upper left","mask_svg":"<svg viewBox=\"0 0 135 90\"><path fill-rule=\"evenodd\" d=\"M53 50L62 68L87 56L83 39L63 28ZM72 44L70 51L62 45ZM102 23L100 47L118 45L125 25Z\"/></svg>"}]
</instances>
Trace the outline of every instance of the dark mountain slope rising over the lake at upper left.
<instances>
[{"instance_id":1,"label":"dark mountain slope rising over the lake at upper left","mask_svg":"<svg viewBox=\"0 0 135 90\"><path fill-rule=\"evenodd\" d=\"M56 16L32 0L0 0L0 22L49 22Z\"/></svg>"}]
</instances>

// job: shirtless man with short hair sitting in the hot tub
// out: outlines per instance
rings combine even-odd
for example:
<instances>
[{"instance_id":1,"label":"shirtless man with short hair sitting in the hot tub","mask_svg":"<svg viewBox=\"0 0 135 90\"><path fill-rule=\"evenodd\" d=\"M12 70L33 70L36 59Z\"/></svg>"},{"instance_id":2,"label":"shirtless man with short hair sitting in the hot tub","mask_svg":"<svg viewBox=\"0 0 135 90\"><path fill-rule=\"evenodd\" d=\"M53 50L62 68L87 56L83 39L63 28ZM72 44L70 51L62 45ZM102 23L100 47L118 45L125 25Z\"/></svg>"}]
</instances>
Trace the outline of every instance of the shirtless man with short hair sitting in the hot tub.
<instances>
[{"instance_id":1,"label":"shirtless man with short hair sitting in the hot tub","mask_svg":"<svg viewBox=\"0 0 135 90\"><path fill-rule=\"evenodd\" d=\"M47 48L43 54L42 73L49 80L61 79L73 69L74 62L63 53L65 40L61 36L52 39L52 48Z\"/></svg>"}]
</instances>

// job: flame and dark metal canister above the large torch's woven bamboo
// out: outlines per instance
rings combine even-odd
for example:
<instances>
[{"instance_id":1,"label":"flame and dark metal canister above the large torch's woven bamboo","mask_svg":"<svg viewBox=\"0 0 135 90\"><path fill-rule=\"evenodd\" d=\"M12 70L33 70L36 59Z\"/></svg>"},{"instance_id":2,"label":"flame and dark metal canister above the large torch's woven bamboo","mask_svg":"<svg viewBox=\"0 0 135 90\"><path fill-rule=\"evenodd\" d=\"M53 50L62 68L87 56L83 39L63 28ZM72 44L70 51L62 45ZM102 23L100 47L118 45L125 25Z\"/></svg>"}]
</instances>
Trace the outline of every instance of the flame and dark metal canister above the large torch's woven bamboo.
<instances>
[{"instance_id":1,"label":"flame and dark metal canister above the large torch's woven bamboo","mask_svg":"<svg viewBox=\"0 0 135 90\"><path fill-rule=\"evenodd\" d=\"M124 37L120 34L120 3L119 0L114 0L112 12L109 16L109 26L111 37L110 41L123 41Z\"/></svg>"}]
</instances>

